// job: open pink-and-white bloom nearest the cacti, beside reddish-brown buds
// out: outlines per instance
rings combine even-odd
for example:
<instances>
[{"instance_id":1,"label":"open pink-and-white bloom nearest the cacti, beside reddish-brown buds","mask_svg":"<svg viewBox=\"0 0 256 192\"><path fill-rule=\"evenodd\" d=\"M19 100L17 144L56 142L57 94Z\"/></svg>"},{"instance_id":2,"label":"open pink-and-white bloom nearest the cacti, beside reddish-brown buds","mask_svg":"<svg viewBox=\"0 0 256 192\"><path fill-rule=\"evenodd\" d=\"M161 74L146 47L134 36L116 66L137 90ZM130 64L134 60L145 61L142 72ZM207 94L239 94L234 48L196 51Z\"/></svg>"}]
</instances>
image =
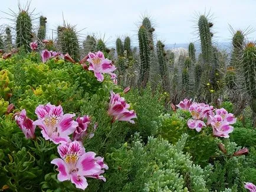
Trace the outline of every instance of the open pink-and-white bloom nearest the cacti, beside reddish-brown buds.
<instances>
[{"instance_id":1,"label":"open pink-and-white bloom nearest the cacti, beside reddish-brown buds","mask_svg":"<svg viewBox=\"0 0 256 192\"><path fill-rule=\"evenodd\" d=\"M98 51L95 54L89 52L87 61L90 63L88 68L90 71L94 71L97 80L102 82L104 80L103 73L113 74L112 72L116 70L116 67L112 64L109 59L104 57L103 52Z\"/></svg>"}]
</instances>

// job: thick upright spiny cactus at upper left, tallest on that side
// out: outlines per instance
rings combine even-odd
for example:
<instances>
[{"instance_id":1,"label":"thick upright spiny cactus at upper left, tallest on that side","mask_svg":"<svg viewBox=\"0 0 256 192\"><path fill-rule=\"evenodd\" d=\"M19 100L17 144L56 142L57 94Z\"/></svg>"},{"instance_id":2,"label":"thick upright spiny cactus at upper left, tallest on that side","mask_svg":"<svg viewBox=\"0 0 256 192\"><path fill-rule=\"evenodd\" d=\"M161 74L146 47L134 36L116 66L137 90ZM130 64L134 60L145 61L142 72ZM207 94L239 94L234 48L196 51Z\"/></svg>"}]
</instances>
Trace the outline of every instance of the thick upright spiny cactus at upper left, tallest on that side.
<instances>
[{"instance_id":1,"label":"thick upright spiny cactus at upper left, tallest on that side","mask_svg":"<svg viewBox=\"0 0 256 192\"><path fill-rule=\"evenodd\" d=\"M16 44L17 47L24 46L30 51L29 43L32 41L32 21L28 11L20 10L16 21Z\"/></svg>"}]
</instances>

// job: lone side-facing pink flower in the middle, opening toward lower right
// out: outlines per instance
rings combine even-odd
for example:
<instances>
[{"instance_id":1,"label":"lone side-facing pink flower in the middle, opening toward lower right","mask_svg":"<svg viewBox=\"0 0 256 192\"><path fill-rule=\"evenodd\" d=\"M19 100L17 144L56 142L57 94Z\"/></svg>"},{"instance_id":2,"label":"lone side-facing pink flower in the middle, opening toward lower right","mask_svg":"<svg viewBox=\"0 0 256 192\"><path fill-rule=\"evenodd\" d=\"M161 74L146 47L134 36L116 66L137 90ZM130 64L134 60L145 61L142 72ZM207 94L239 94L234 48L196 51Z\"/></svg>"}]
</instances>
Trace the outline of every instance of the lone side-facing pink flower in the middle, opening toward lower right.
<instances>
[{"instance_id":1,"label":"lone side-facing pink flower in the middle, opening toward lower right","mask_svg":"<svg viewBox=\"0 0 256 192\"><path fill-rule=\"evenodd\" d=\"M113 116L114 121L129 121L134 123L132 118L137 118L136 113L132 110L129 111L129 104L126 103L123 97L119 94L115 94L113 91L110 92L109 110L107 111L110 116Z\"/></svg>"}]
</instances>

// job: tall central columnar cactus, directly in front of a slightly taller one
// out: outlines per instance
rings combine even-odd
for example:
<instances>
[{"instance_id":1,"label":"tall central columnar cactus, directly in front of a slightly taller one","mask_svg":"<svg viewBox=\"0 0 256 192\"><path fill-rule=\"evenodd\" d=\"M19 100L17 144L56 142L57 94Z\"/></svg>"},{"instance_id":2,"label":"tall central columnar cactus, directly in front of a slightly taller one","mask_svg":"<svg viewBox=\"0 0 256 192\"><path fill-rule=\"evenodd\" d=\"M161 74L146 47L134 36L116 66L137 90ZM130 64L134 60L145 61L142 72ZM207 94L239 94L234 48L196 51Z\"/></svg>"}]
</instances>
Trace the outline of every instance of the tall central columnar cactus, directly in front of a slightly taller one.
<instances>
[{"instance_id":1,"label":"tall central columnar cactus, directly in front of a slightly taller one","mask_svg":"<svg viewBox=\"0 0 256 192\"><path fill-rule=\"evenodd\" d=\"M140 83L146 86L147 81L149 80L150 47L149 34L144 25L139 28L138 38L140 48Z\"/></svg>"}]
</instances>

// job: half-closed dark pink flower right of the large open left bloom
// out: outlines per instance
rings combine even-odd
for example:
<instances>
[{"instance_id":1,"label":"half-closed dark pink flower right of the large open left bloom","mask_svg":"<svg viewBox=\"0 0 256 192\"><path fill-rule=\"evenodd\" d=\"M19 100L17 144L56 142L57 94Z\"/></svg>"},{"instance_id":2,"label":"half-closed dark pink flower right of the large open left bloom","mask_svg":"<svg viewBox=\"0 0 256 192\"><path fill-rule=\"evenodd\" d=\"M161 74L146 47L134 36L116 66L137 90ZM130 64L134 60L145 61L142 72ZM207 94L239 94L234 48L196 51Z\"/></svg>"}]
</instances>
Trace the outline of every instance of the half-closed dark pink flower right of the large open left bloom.
<instances>
[{"instance_id":1,"label":"half-closed dark pink flower right of the large open left bloom","mask_svg":"<svg viewBox=\"0 0 256 192\"><path fill-rule=\"evenodd\" d=\"M90 117L84 115L84 117L77 117L78 126L73 134L73 140L80 141L87 135L87 127L91 123Z\"/></svg>"}]
</instances>

